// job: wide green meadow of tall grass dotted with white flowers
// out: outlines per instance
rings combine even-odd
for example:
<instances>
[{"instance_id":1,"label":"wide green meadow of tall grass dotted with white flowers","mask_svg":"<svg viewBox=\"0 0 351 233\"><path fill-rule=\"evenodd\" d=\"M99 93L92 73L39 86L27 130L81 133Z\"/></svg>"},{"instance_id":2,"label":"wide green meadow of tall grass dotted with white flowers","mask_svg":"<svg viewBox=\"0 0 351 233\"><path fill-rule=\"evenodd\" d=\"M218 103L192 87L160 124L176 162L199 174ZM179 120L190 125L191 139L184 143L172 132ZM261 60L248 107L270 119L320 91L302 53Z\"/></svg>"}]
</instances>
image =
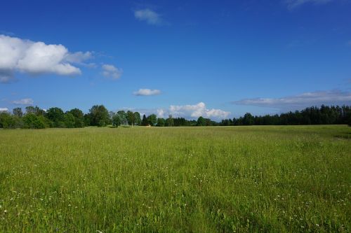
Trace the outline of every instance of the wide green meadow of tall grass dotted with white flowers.
<instances>
[{"instance_id":1,"label":"wide green meadow of tall grass dotted with white flowers","mask_svg":"<svg viewBox=\"0 0 351 233\"><path fill-rule=\"evenodd\" d=\"M0 232L350 232L351 127L0 130Z\"/></svg>"}]
</instances>

